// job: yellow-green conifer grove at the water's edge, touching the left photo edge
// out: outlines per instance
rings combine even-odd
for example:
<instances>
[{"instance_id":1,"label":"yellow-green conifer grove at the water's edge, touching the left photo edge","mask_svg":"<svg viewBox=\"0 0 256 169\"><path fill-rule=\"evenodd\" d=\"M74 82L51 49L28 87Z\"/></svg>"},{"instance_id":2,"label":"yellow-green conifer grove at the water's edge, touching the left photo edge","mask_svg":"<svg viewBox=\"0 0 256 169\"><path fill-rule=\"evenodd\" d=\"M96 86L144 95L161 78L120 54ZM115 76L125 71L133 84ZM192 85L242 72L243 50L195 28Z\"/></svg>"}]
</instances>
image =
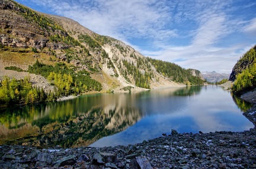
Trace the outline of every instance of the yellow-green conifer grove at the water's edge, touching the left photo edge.
<instances>
[{"instance_id":1,"label":"yellow-green conifer grove at the water's edge, touching the left photo edge","mask_svg":"<svg viewBox=\"0 0 256 169\"><path fill-rule=\"evenodd\" d=\"M46 99L44 90L33 87L29 77L17 80L6 76L0 83L0 105L44 102Z\"/></svg>"}]
</instances>

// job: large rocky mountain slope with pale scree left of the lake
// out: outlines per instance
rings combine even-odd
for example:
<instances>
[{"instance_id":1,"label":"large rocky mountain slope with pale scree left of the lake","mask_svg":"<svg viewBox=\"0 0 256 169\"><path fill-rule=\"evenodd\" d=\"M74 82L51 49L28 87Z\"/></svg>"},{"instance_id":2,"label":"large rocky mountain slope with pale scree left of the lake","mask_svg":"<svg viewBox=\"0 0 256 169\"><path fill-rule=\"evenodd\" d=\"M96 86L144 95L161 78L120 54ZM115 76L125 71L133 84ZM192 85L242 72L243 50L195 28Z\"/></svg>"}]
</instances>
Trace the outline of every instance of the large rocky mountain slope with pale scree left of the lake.
<instances>
[{"instance_id":1,"label":"large rocky mountain slope with pale scree left of the lake","mask_svg":"<svg viewBox=\"0 0 256 169\"><path fill-rule=\"evenodd\" d=\"M60 76L71 74L73 86L69 90L74 93L95 90L94 87L88 89L87 86L82 89L81 85L85 84L77 84L81 81L76 80L75 74L82 71L87 79L100 82L103 91L120 91L128 86L131 89L152 89L202 83L191 71L175 64L160 70L154 64L155 61L144 57L129 45L111 37L98 35L72 19L41 14L14 1L0 2L1 77L15 74L15 77L22 79L28 75L27 72L4 69L7 66L15 66L30 73L37 73L38 76L44 74L44 77L40 78L47 79L50 70L56 71L54 67L63 64L65 66L62 68L66 70L59 72ZM37 60L40 64L34 64ZM164 61L157 62L158 66L166 64ZM168 75L170 72L176 74L175 78ZM35 78L37 79L37 76ZM34 85L41 86L40 80L34 81ZM49 85L44 85L45 90L52 90L47 86Z\"/></svg>"}]
</instances>

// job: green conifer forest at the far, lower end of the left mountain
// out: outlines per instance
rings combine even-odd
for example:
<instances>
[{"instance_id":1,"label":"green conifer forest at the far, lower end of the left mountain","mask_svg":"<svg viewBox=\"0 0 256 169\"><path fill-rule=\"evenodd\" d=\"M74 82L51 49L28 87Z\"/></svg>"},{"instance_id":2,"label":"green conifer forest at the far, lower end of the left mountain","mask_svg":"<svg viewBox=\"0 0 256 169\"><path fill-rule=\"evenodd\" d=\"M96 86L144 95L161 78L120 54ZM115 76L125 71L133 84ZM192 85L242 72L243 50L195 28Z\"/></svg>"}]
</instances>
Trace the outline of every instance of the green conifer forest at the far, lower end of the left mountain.
<instances>
[{"instance_id":1,"label":"green conifer forest at the far, lower end of the left mountain","mask_svg":"<svg viewBox=\"0 0 256 169\"><path fill-rule=\"evenodd\" d=\"M193 76L189 69L186 70L177 64L149 57L148 61L155 66L158 73L162 73L163 76L170 78L174 82L184 83L186 85L203 85L203 80L200 77Z\"/></svg>"}]
</instances>

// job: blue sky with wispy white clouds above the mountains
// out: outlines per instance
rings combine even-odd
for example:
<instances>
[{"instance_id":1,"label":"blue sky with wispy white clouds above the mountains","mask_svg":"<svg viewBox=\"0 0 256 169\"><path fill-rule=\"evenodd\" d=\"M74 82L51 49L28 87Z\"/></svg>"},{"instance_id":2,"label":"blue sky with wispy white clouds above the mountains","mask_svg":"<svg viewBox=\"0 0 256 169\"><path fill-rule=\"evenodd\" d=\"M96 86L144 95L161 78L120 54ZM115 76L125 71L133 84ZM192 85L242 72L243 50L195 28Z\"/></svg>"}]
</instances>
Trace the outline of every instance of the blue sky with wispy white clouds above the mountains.
<instances>
[{"instance_id":1,"label":"blue sky with wispy white clouds above the mountains","mask_svg":"<svg viewBox=\"0 0 256 169\"><path fill-rule=\"evenodd\" d=\"M18 0L185 69L231 73L256 44L254 0Z\"/></svg>"}]
</instances>

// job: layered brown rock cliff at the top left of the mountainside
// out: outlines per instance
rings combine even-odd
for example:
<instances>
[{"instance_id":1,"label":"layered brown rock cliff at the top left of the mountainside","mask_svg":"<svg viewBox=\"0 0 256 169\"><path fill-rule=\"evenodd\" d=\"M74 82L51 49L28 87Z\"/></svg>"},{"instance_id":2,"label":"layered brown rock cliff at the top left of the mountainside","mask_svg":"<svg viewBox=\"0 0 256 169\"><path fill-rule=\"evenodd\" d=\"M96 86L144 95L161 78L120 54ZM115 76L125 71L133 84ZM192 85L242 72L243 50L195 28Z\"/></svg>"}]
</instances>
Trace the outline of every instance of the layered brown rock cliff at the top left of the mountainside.
<instances>
[{"instance_id":1,"label":"layered brown rock cliff at the top left of the mountainside","mask_svg":"<svg viewBox=\"0 0 256 169\"><path fill-rule=\"evenodd\" d=\"M41 49L44 47L53 49L68 48L61 43L48 43L49 37L54 34L66 34L62 31L45 30L37 27L36 23L23 17L28 15L27 11L18 7L15 2L1 0L0 9L0 44L8 45L9 47L33 47ZM19 15L17 12L20 12ZM67 34L66 34L67 35Z\"/></svg>"}]
</instances>

